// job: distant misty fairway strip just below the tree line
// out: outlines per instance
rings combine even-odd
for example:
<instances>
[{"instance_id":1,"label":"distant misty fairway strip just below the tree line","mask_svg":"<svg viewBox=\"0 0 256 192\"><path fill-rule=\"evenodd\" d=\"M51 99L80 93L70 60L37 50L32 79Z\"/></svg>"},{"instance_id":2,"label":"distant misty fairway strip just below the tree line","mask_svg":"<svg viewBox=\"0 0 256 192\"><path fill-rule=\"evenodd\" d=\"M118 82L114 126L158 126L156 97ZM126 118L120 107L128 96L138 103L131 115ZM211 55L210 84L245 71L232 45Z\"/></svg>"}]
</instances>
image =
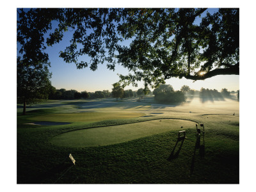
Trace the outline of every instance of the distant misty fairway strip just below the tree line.
<instances>
[{"instance_id":1,"label":"distant misty fairway strip just below the tree line","mask_svg":"<svg viewBox=\"0 0 256 192\"><path fill-rule=\"evenodd\" d=\"M225 98L223 100L205 100L198 96L188 97L186 102L181 104L157 104L154 97L146 97L141 102L138 99L124 99L116 102L115 99L95 99L95 100L59 100L48 102L47 104L35 104L28 106L28 111L35 109L57 109L56 113L86 113L86 112L102 112L102 113L145 113L147 115L159 115L163 113L193 113L202 114L229 114L239 115L239 102L233 98ZM21 111L18 106L17 111ZM78 116L78 115L77 115ZM43 117L42 117L43 118Z\"/></svg>"}]
</instances>

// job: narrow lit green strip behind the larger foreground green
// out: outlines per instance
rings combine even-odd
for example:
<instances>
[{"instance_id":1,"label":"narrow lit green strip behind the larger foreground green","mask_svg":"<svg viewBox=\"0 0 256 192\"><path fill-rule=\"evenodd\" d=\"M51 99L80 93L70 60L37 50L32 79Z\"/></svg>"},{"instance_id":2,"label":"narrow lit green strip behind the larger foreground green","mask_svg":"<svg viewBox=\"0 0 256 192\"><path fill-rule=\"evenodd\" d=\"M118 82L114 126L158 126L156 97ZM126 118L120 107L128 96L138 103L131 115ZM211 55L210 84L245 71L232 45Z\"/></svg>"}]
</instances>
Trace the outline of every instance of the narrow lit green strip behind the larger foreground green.
<instances>
[{"instance_id":1,"label":"narrow lit green strip behind the larger foreground green","mask_svg":"<svg viewBox=\"0 0 256 192\"><path fill-rule=\"evenodd\" d=\"M99 122L110 119L136 118L145 115L144 113L56 113L48 115L40 115L30 118L35 121L48 122Z\"/></svg>"}]
</instances>

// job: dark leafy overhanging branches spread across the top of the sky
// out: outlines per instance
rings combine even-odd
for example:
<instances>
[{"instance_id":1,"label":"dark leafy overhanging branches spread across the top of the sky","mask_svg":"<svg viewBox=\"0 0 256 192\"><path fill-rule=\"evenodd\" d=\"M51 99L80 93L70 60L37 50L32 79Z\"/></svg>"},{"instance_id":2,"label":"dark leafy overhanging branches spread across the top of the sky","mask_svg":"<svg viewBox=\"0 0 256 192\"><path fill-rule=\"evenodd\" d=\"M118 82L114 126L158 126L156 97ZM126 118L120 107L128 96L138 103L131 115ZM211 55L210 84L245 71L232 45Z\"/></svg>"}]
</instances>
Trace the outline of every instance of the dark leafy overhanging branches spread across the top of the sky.
<instances>
[{"instance_id":1,"label":"dark leafy overhanging branches spread across the top of the sky","mask_svg":"<svg viewBox=\"0 0 256 192\"><path fill-rule=\"evenodd\" d=\"M120 74L123 86L144 81L156 87L171 77L200 80L239 74L239 9L220 8L79 8L18 10L17 41L23 60L49 60L45 42L60 42L73 31L70 45L60 57L77 68L116 63L129 69ZM202 14L205 16L202 17ZM52 29L58 28L44 40ZM89 56L89 61L80 56Z\"/></svg>"}]
</instances>

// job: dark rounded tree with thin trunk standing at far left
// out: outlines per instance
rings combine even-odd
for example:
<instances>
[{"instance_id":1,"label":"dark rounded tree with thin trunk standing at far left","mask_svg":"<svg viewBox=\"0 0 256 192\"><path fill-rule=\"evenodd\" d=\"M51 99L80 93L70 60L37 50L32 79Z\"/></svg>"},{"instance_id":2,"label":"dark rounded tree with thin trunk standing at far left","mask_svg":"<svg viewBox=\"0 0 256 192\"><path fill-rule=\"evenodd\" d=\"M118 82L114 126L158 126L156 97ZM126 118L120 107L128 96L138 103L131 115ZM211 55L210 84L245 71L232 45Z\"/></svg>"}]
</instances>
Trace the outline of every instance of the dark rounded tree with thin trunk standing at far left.
<instances>
[{"instance_id":1,"label":"dark rounded tree with thin trunk standing at far left","mask_svg":"<svg viewBox=\"0 0 256 192\"><path fill-rule=\"evenodd\" d=\"M48 99L52 92L51 73L47 66L24 65L17 59L17 102L23 103L23 115L26 115L26 105Z\"/></svg>"}]
</instances>

